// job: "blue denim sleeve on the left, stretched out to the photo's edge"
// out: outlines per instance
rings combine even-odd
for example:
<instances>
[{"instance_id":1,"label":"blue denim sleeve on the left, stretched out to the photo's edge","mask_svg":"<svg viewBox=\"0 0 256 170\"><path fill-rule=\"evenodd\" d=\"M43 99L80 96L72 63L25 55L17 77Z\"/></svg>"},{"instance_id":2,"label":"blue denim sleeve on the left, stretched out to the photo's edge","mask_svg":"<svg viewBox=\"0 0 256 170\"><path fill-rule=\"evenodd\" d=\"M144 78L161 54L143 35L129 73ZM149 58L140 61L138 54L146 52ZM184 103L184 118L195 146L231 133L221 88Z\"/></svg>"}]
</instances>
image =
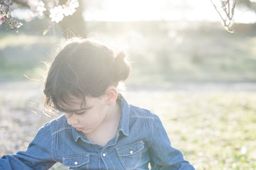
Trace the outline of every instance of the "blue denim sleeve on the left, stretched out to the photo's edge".
<instances>
[{"instance_id":1,"label":"blue denim sleeve on the left, stretched out to the photo's edge","mask_svg":"<svg viewBox=\"0 0 256 170\"><path fill-rule=\"evenodd\" d=\"M50 125L38 130L28 145L26 152L4 155L0 159L0 169L49 169L55 161L52 159L52 135Z\"/></svg>"}]
</instances>

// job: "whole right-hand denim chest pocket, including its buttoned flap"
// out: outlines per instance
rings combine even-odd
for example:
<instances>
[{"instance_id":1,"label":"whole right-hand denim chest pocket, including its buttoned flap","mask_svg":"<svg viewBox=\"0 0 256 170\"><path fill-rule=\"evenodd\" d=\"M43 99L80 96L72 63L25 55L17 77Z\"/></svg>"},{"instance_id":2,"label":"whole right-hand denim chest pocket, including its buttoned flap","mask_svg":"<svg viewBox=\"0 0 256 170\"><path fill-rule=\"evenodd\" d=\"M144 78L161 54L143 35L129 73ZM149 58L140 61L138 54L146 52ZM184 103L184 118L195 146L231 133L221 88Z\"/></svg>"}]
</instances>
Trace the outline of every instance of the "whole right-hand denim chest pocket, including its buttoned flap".
<instances>
[{"instance_id":1,"label":"whole right-hand denim chest pocket, including its buttoned flap","mask_svg":"<svg viewBox=\"0 0 256 170\"><path fill-rule=\"evenodd\" d=\"M116 148L118 157L126 170L136 168L140 162L143 148L143 141Z\"/></svg>"}]
</instances>

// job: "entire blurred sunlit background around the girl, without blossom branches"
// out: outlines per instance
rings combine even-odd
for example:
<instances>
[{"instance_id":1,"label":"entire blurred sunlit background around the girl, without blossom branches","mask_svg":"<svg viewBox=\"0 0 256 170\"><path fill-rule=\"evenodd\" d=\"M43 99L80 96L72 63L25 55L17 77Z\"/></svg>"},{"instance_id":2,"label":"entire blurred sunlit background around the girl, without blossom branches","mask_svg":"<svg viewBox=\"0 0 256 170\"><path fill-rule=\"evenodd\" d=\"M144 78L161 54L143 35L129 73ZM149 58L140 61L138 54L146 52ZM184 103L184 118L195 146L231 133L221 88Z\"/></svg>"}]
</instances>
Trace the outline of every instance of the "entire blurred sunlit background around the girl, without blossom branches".
<instances>
[{"instance_id":1,"label":"entire blurred sunlit background around the girl, without blossom branches","mask_svg":"<svg viewBox=\"0 0 256 170\"><path fill-rule=\"evenodd\" d=\"M79 1L57 24L13 11L18 33L0 26L0 156L26 149L50 120L40 111L44 62L78 35L128 52L124 96L160 116L196 169L256 169L255 11L255 1L237 1L235 33L210 0Z\"/></svg>"}]
</instances>

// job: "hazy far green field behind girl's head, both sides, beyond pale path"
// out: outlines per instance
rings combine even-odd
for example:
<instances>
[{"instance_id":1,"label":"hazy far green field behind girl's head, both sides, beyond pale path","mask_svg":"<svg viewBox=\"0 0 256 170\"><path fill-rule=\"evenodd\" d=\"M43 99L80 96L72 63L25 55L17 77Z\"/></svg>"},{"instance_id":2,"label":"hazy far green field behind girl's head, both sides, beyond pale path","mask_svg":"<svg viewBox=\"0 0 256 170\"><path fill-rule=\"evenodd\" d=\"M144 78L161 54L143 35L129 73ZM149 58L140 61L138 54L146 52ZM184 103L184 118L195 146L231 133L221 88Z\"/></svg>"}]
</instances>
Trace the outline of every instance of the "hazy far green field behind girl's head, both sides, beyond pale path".
<instances>
[{"instance_id":1,"label":"hazy far green field behind girl's head, both sides, beyond pale path","mask_svg":"<svg viewBox=\"0 0 256 170\"><path fill-rule=\"evenodd\" d=\"M160 79L154 86L169 81L256 81L255 35L230 34L219 27L219 23L89 22L87 33L113 49L128 51L135 75L129 81L134 86L145 86L152 76ZM63 40L60 35L28 33L0 30L0 80L26 79L23 74L36 77L39 63L51 60Z\"/></svg>"}]
</instances>

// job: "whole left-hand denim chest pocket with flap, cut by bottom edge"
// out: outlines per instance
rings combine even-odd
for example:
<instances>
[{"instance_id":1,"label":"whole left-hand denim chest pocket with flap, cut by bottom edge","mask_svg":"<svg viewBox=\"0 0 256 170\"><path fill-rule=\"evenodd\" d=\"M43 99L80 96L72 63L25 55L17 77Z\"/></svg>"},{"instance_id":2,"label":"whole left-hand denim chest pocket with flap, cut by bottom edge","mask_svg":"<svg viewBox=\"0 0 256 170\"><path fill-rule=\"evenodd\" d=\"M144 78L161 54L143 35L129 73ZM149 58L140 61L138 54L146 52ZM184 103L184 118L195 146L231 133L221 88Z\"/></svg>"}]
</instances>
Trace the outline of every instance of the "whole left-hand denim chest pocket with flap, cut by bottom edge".
<instances>
[{"instance_id":1,"label":"whole left-hand denim chest pocket with flap, cut by bottom edge","mask_svg":"<svg viewBox=\"0 0 256 170\"><path fill-rule=\"evenodd\" d=\"M89 169L89 154L75 155L72 157L63 157L62 164L68 166L69 169Z\"/></svg>"}]
</instances>

